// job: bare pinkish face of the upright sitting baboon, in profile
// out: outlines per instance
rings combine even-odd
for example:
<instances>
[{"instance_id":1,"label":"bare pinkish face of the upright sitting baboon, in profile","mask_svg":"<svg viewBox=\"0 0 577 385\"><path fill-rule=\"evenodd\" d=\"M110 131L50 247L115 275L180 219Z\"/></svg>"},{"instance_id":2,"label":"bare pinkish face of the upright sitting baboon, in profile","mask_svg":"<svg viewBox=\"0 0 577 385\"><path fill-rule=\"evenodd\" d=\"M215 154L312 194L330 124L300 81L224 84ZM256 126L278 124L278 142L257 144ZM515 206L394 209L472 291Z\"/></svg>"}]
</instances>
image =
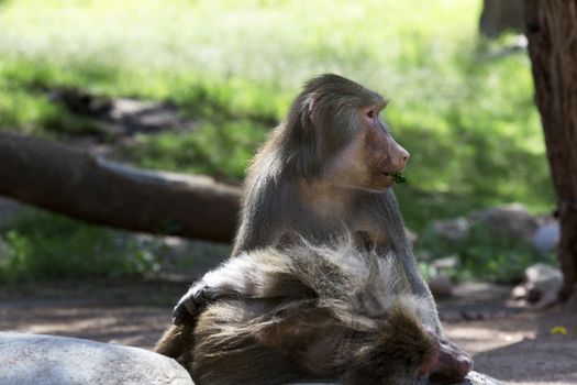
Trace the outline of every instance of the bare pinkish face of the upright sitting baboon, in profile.
<instances>
[{"instance_id":1,"label":"bare pinkish face of the upright sitting baboon, in profile","mask_svg":"<svg viewBox=\"0 0 577 385\"><path fill-rule=\"evenodd\" d=\"M392 139L380 118L384 101L353 108L354 135L326 167L334 184L382 191L393 184L392 175L404 169L409 153Z\"/></svg>"}]
</instances>

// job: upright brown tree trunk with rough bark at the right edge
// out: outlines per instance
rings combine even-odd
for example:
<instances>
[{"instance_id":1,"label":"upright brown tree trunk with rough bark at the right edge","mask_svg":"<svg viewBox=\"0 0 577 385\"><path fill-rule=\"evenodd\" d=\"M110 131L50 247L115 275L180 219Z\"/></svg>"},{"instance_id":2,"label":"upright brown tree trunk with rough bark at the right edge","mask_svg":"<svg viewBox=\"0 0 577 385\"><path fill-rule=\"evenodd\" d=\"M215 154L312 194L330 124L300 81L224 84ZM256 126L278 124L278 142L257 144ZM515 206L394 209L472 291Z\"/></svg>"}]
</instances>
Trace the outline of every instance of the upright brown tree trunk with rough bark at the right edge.
<instances>
[{"instance_id":1,"label":"upright brown tree trunk with rough bark at the right edge","mask_svg":"<svg viewBox=\"0 0 577 385\"><path fill-rule=\"evenodd\" d=\"M535 101L561 221L562 299L577 279L577 0L526 0Z\"/></svg>"}]
</instances>

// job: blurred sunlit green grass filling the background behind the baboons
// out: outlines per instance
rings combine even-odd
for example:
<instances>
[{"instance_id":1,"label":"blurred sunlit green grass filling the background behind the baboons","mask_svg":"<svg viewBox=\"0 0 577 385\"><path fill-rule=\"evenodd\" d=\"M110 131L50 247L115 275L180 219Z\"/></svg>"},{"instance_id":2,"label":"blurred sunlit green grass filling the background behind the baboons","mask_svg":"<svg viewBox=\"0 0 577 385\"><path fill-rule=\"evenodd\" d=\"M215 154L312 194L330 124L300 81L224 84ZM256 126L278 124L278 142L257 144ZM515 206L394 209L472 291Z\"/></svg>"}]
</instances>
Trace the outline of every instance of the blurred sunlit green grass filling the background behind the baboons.
<instances>
[{"instance_id":1,"label":"blurred sunlit green grass filling the background behind the baboons","mask_svg":"<svg viewBox=\"0 0 577 385\"><path fill-rule=\"evenodd\" d=\"M390 99L385 117L412 154L396 193L418 234L433 220L513 201L548 213L555 199L530 62L524 50L501 54L513 35L479 36L480 8L479 0L0 1L0 129L90 139L142 167L240 179L302 84L332 72ZM169 102L193 124L119 140L55 99L55 89ZM162 266L158 242L29 210L2 229L0 279L151 274ZM418 251L431 250L458 252L455 274L464 278L514 280L540 258L488 237L456 251L424 237Z\"/></svg>"}]
</instances>

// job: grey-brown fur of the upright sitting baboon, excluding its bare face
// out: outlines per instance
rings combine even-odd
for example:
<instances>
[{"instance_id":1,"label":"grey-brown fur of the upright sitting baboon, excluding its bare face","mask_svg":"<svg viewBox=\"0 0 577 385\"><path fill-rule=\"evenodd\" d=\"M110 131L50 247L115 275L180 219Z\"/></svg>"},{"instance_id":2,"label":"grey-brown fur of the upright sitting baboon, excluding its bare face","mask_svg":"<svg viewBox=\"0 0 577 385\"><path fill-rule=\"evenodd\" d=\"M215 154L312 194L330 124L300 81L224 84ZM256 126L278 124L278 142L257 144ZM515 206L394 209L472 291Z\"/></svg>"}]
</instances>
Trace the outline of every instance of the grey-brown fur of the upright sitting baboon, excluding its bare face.
<instances>
[{"instance_id":1,"label":"grey-brown fur of the upright sitting baboon, excluding its bare face","mask_svg":"<svg viewBox=\"0 0 577 385\"><path fill-rule=\"evenodd\" d=\"M307 84L287 119L273 131L252 162L232 255L276 244L287 231L297 231L321 243L348 230L368 231L380 240L377 243L381 252L393 252L402 266L400 278L408 282L415 295L426 298L431 310L436 311L391 189L324 187L335 200L344 202L329 215L319 215L315 210L320 206L318 200L326 199L326 194L303 194L303 189L324 184L323 164L336 156L358 130L354 109L371 103L386 102L378 94L336 75L323 75ZM314 120L313 114L319 118ZM443 333L437 316L431 326Z\"/></svg>"}]
</instances>

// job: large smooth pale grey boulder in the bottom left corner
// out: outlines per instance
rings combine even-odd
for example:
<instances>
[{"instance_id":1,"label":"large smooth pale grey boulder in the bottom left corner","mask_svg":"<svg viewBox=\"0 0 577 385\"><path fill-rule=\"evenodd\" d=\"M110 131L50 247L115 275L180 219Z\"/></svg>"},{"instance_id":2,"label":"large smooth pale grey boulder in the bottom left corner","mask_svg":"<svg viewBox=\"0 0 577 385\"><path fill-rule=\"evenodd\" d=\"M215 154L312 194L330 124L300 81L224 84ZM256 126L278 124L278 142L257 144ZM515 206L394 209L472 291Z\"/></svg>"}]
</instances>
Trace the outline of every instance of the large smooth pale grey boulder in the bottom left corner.
<instances>
[{"instance_id":1,"label":"large smooth pale grey boulder in the bottom left corner","mask_svg":"<svg viewBox=\"0 0 577 385\"><path fill-rule=\"evenodd\" d=\"M0 332L2 385L193 385L175 360L76 338Z\"/></svg>"}]
</instances>

